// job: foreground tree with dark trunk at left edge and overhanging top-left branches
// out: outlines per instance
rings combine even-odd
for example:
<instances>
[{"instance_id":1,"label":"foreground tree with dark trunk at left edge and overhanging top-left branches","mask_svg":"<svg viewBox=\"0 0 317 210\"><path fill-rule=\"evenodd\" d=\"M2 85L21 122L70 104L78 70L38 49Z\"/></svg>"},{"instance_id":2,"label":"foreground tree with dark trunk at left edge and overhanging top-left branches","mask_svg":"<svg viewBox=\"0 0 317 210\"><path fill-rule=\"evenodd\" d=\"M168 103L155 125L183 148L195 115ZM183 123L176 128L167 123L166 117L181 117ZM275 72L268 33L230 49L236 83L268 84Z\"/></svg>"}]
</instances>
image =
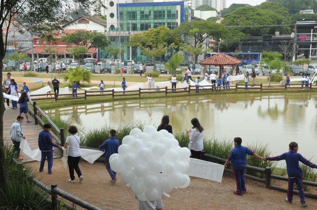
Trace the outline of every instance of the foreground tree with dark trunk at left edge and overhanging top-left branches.
<instances>
[{"instance_id":1,"label":"foreground tree with dark trunk at left edge and overhanging top-left branches","mask_svg":"<svg viewBox=\"0 0 317 210\"><path fill-rule=\"evenodd\" d=\"M0 34L4 34L4 28L12 25L25 28L31 34L42 39L53 39L53 34L49 32L62 30L62 23L67 21L68 15L56 16L56 12L48 12L48 9L57 9L63 13L62 8L70 8L71 5L80 4L87 9L94 8L95 12L100 13L101 8L106 8L99 0L15 0L2 1L0 4ZM27 24L23 24L27 23ZM0 68L2 71L3 58L6 53L8 33L0 40ZM3 81L2 73L0 80ZM3 101L3 93L0 91L0 100ZM6 166L3 144L3 113L4 104L0 103L0 188L6 192Z\"/></svg>"}]
</instances>

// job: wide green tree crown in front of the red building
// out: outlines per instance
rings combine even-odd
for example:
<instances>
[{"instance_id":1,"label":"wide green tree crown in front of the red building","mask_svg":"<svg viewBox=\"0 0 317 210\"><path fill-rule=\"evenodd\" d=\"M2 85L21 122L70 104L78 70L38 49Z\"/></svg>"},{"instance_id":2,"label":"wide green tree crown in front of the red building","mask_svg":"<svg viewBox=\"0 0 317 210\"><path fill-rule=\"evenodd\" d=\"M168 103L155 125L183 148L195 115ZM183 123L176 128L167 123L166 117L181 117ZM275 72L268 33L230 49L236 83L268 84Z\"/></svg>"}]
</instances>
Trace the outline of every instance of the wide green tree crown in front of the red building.
<instances>
[{"instance_id":1,"label":"wide green tree crown in front of the red building","mask_svg":"<svg viewBox=\"0 0 317 210\"><path fill-rule=\"evenodd\" d=\"M61 41L69 45L74 44L77 46L85 46L88 49L94 48L105 48L110 44L107 37L104 34L97 32L89 32L84 30L77 30L73 34L67 34L61 37Z\"/></svg>"}]
</instances>

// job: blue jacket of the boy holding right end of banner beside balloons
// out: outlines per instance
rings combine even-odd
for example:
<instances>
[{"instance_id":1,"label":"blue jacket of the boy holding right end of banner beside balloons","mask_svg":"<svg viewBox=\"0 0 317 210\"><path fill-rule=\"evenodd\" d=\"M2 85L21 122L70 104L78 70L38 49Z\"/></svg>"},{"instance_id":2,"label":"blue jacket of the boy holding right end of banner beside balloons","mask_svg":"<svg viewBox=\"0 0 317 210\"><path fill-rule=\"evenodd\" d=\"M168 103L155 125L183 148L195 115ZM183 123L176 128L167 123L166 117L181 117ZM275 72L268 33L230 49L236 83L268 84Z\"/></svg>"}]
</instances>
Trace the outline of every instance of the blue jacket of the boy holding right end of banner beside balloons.
<instances>
[{"instance_id":1,"label":"blue jacket of the boy holding right end of banner beside balloons","mask_svg":"<svg viewBox=\"0 0 317 210\"><path fill-rule=\"evenodd\" d=\"M254 152L248 147L242 145L236 145L229 154L228 160L231 160L232 167L245 168L247 162L247 154L253 155Z\"/></svg>"}]
</instances>

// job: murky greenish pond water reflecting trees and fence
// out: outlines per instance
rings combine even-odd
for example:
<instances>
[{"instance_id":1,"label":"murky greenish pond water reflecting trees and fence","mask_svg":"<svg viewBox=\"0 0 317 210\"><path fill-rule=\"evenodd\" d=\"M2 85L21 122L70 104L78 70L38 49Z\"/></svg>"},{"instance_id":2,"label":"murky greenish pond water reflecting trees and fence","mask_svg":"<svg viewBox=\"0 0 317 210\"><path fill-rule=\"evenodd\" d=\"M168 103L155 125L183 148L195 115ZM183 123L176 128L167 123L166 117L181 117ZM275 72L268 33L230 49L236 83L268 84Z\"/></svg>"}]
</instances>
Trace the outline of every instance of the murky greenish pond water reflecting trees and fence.
<instances>
[{"instance_id":1,"label":"murky greenish pond water reflecting trees and fence","mask_svg":"<svg viewBox=\"0 0 317 210\"><path fill-rule=\"evenodd\" d=\"M317 148L316 108L317 95L312 93L243 93L77 105L46 113L55 118L71 118L75 125L85 129L106 123L119 127L122 120L158 126L162 116L169 115L174 132L190 129L190 121L196 117L204 134L210 137L241 137L243 145L262 142L269 145L274 156L288 151L288 144L295 141L299 152L311 158Z\"/></svg>"}]
</instances>

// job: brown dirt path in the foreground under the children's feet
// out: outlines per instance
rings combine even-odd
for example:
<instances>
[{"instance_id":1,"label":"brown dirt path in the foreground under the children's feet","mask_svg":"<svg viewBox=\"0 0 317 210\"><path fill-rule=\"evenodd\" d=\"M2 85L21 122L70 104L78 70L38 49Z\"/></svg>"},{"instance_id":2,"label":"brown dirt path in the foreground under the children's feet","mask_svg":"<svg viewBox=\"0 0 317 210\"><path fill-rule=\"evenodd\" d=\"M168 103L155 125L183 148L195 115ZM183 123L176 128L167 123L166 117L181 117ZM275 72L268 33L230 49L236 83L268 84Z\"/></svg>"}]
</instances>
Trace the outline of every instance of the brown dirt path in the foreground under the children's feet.
<instances>
[{"instance_id":1,"label":"brown dirt path in the foreground under the children's feet","mask_svg":"<svg viewBox=\"0 0 317 210\"><path fill-rule=\"evenodd\" d=\"M138 209L138 201L134 199L131 188L126 187L118 174L118 181L111 185L110 176L103 163L89 164L81 160L80 168L84 176L83 182L69 183L68 169L65 170L60 159L53 160L53 173L49 175L44 168L37 178L50 186L57 186L84 201L105 210L131 210ZM27 163L38 170L39 162ZM76 176L76 175L75 175ZM287 187L286 182L279 182ZM273 181L274 185L277 183ZM167 198L163 195L164 210L210 210L210 209L303 209L299 196L294 195L293 204L284 201L286 193L265 188L264 184L246 179L248 193L243 196L233 195L232 190L236 184L233 176L225 174L222 183L191 177L191 184L184 189L174 189ZM316 191L316 189L313 189ZM307 198L308 206L305 209L316 209L317 200Z\"/></svg>"}]
</instances>

